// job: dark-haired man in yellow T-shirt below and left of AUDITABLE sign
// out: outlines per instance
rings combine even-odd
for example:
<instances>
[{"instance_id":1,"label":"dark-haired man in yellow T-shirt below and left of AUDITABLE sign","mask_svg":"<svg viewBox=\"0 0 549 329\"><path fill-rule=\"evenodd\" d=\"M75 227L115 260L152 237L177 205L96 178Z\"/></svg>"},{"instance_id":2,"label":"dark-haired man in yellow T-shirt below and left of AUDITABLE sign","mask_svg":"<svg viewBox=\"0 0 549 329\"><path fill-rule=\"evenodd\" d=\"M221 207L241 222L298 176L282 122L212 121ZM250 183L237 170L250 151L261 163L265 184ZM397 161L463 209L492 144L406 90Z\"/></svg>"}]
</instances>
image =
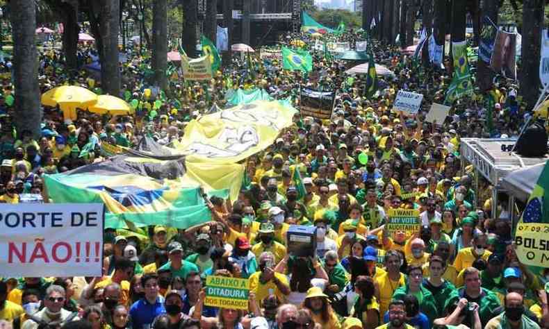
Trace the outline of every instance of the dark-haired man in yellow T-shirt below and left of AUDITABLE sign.
<instances>
[{"instance_id":1,"label":"dark-haired man in yellow T-shirt below and left of AUDITABLE sign","mask_svg":"<svg viewBox=\"0 0 549 329\"><path fill-rule=\"evenodd\" d=\"M406 285L405 276L400 273L401 256L397 251L388 251L385 254L387 272L374 280L375 298L379 302L379 314L387 312L389 303L395 290Z\"/></svg>"}]
</instances>

